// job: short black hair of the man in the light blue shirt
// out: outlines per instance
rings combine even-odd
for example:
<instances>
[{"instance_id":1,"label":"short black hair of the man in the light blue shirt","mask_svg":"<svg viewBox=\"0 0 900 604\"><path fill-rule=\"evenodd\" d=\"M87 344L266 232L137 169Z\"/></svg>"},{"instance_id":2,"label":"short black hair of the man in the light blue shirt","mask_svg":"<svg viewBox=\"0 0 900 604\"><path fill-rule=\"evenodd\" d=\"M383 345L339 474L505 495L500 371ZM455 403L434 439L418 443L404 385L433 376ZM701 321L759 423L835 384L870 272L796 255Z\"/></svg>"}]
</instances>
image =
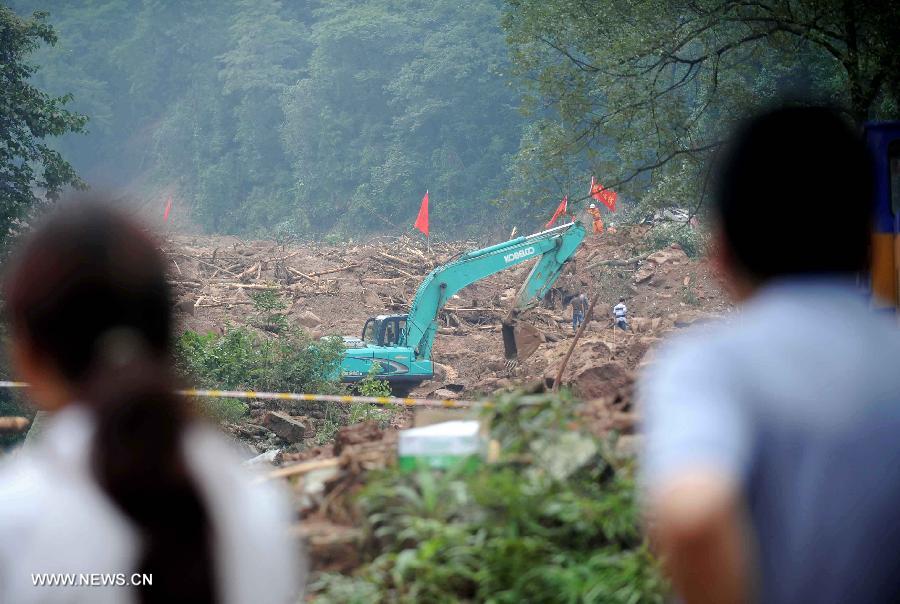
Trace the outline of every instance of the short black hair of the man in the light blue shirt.
<instances>
[{"instance_id":1,"label":"short black hair of the man in the light blue shirt","mask_svg":"<svg viewBox=\"0 0 900 604\"><path fill-rule=\"evenodd\" d=\"M872 168L838 113L785 107L749 120L724 149L717 179L726 244L756 281L866 268Z\"/></svg>"}]
</instances>

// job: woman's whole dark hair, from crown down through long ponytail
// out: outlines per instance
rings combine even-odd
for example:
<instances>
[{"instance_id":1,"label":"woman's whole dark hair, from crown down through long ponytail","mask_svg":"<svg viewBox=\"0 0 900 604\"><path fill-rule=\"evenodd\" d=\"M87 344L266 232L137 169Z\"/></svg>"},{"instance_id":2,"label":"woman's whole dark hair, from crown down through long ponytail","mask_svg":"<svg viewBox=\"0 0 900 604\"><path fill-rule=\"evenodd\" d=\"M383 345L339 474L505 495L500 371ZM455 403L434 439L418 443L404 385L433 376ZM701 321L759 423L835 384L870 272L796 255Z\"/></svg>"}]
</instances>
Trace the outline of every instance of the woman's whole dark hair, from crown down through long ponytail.
<instances>
[{"instance_id":1,"label":"woman's whole dark hair, from crown down through long ponytail","mask_svg":"<svg viewBox=\"0 0 900 604\"><path fill-rule=\"evenodd\" d=\"M191 414L175 394L165 262L105 205L73 203L28 236L5 282L14 337L97 417L91 461L136 525L142 602L216 600L212 526L182 453Z\"/></svg>"}]
</instances>

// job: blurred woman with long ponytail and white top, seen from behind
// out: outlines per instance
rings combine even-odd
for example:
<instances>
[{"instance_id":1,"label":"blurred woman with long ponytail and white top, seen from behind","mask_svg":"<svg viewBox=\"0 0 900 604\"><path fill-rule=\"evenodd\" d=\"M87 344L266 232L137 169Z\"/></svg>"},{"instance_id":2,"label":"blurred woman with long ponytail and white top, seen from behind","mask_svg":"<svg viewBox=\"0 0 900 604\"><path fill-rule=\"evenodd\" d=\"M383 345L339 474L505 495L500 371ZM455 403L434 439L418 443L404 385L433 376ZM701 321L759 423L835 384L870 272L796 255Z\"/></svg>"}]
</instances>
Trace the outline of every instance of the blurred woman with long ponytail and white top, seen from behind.
<instances>
[{"instance_id":1,"label":"blurred woman with long ponytail and white top, seen from behind","mask_svg":"<svg viewBox=\"0 0 900 604\"><path fill-rule=\"evenodd\" d=\"M301 598L286 494L175 394L170 299L157 244L106 206L67 204L20 249L11 356L52 416L0 465L0 602Z\"/></svg>"}]
</instances>

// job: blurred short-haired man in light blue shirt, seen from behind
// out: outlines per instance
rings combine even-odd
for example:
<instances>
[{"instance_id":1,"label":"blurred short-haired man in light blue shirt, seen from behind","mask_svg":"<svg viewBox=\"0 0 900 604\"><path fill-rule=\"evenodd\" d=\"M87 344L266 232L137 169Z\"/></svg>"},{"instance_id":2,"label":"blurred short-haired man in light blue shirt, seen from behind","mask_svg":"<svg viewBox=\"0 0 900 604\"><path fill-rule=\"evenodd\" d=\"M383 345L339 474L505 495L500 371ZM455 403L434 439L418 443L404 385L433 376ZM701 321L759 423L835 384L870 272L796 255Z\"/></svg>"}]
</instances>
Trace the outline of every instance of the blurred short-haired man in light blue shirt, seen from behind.
<instances>
[{"instance_id":1,"label":"blurred short-haired man in light blue shirt, seen from behind","mask_svg":"<svg viewBox=\"0 0 900 604\"><path fill-rule=\"evenodd\" d=\"M900 335L855 287L865 147L843 115L786 108L722 157L714 258L742 316L670 342L639 381L651 540L688 604L894 601ZM840 237L813 244L836 214Z\"/></svg>"}]
</instances>

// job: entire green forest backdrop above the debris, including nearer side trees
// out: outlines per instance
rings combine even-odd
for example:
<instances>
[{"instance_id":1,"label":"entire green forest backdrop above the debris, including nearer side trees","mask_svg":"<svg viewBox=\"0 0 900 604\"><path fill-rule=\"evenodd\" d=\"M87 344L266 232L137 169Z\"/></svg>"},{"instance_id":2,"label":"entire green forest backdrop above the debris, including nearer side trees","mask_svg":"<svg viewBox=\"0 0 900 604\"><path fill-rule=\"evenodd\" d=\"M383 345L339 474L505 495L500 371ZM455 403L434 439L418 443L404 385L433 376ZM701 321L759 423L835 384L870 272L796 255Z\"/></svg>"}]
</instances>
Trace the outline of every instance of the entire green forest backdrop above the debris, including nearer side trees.
<instances>
[{"instance_id":1,"label":"entire green forest backdrop above the debris, including nearer side trees","mask_svg":"<svg viewBox=\"0 0 900 604\"><path fill-rule=\"evenodd\" d=\"M8 6L4 32L31 30L7 83L58 118L20 133L42 149L12 221L75 184L171 195L179 228L344 238L409 229L428 190L436 236L500 235L591 176L626 210L700 207L724 129L777 98L900 115L886 0Z\"/></svg>"}]
</instances>

